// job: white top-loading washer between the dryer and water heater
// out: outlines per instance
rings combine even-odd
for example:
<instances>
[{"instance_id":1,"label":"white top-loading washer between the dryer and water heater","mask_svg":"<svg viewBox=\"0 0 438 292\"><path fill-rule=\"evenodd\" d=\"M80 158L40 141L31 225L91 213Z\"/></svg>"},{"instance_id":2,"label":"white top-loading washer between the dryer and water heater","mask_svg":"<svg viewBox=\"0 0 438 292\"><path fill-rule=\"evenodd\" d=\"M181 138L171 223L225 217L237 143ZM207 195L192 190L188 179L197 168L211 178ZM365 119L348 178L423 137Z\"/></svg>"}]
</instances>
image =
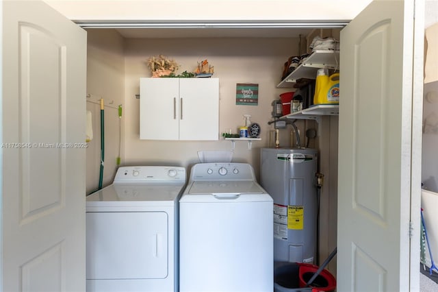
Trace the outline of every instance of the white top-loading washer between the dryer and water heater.
<instances>
[{"instance_id":1,"label":"white top-loading washer between the dryer and water heater","mask_svg":"<svg viewBox=\"0 0 438 292\"><path fill-rule=\"evenodd\" d=\"M194 165L179 212L181 292L273 290L273 201L253 167Z\"/></svg>"}]
</instances>

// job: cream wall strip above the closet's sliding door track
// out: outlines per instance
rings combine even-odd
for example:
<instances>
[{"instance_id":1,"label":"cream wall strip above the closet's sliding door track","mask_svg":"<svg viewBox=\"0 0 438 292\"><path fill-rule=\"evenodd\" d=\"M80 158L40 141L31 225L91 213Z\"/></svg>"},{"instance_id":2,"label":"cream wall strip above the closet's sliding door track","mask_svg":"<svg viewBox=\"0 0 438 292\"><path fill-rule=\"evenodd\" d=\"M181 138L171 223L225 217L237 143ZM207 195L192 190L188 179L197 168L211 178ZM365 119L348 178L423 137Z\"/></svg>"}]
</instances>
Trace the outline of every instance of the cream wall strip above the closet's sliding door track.
<instances>
[{"instance_id":1,"label":"cream wall strip above the closet's sliding door track","mask_svg":"<svg viewBox=\"0 0 438 292\"><path fill-rule=\"evenodd\" d=\"M72 20L350 20L371 0L44 0ZM80 4L79 4L79 3Z\"/></svg>"}]
</instances>

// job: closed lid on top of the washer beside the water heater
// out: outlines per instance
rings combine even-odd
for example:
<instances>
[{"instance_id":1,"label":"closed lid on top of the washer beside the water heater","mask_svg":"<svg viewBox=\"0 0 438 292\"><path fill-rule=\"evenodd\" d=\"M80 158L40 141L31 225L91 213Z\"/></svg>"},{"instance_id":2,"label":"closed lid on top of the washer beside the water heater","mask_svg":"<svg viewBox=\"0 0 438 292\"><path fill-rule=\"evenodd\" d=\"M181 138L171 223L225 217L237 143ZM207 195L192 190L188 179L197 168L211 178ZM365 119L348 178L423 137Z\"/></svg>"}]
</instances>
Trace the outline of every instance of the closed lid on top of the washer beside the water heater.
<instances>
[{"instance_id":1,"label":"closed lid on top of the washer beside the water heater","mask_svg":"<svg viewBox=\"0 0 438 292\"><path fill-rule=\"evenodd\" d=\"M189 195L261 193L266 191L253 180L196 181L188 191Z\"/></svg>"}]
</instances>

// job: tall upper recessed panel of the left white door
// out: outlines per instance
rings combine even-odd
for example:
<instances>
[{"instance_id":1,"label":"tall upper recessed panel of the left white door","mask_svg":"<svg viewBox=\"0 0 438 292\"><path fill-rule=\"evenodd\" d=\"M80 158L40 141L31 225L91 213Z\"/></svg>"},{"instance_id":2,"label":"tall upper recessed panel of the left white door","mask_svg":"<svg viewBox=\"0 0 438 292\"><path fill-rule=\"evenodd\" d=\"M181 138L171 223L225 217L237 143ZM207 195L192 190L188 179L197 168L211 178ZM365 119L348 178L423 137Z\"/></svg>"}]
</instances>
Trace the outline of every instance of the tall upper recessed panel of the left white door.
<instances>
[{"instance_id":1,"label":"tall upper recessed panel of the left white door","mask_svg":"<svg viewBox=\"0 0 438 292\"><path fill-rule=\"evenodd\" d=\"M21 141L35 143L21 149L21 220L32 221L65 205L66 161L63 149L55 146L66 135L62 119L66 112L63 68L66 46L43 27L19 23L18 29L21 42L18 127ZM41 68L47 69L47 73L41 74ZM47 148L41 151L44 146ZM53 181L41 184L46 175Z\"/></svg>"}]
</instances>

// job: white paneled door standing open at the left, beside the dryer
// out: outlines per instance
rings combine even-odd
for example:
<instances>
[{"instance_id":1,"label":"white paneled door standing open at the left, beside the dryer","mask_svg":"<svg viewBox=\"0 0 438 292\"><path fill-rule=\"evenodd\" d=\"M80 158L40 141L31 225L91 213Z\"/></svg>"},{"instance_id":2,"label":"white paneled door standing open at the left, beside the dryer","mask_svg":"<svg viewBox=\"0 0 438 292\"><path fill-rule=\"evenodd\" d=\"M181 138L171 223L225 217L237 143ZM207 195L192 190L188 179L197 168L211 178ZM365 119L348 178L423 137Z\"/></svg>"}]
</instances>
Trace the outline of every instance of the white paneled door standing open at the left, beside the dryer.
<instances>
[{"instance_id":1,"label":"white paneled door standing open at the left, beside the dryer","mask_svg":"<svg viewBox=\"0 0 438 292\"><path fill-rule=\"evenodd\" d=\"M86 32L2 3L0 289L85 291Z\"/></svg>"}]
</instances>

